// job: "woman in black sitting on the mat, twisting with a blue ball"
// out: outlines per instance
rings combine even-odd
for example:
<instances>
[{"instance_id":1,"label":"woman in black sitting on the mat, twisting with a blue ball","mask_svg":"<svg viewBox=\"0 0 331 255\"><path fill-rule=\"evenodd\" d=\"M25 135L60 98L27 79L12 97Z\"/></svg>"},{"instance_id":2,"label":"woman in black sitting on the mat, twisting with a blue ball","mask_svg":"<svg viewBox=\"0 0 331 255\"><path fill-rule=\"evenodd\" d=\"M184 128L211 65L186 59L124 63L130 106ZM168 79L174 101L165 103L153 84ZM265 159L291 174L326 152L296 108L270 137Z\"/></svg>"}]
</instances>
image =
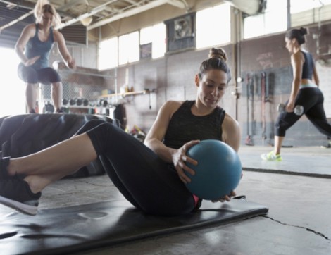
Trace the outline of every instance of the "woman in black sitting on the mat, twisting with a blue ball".
<instances>
[{"instance_id":1,"label":"woman in black sitting on the mat, twisting with a blue ball","mask_svg":"<svg viewBox=\"0 0 331 255\"><path fill-rule=\"evenodd\" d=\"M35 215L42 189L75 173L98 156L111 163L106 173L132 205L146 213L178 216L199 208L201 199L186 187L196 165L187 150L216 139L238 151L241 132L235 119L218 106L231 79L223 49L211 49L195 75L196 100L167 101L144 143L111 123L91 120L77 135L35 154L1 158L0 203ZM25 178L17 178L24 175ZM230 201L235 192L215 201Z\"/></svg>"}]
</instances>

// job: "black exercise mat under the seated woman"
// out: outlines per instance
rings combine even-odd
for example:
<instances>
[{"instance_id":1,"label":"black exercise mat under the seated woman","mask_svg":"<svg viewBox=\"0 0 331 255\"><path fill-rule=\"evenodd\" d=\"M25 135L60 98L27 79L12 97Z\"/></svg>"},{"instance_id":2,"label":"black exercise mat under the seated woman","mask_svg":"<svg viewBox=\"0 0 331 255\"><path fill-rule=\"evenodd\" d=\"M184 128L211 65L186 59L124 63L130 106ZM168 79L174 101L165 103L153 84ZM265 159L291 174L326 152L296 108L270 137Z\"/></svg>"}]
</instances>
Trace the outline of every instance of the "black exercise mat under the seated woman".
<instances>
[{"instance_id":1,"label":"black exercise mat under the seated woman","mask_svg":"<svg viewBox=\"0 0 331 255\"><path fill-rule=\"evenodd\" d=\"M37 216L10 213L0 219L1 255L70 254L146 237L221 225L268 213L250 201L203 201L187 216L150 216L125 200L39 210Z\"/></svg>"}]
</instances>

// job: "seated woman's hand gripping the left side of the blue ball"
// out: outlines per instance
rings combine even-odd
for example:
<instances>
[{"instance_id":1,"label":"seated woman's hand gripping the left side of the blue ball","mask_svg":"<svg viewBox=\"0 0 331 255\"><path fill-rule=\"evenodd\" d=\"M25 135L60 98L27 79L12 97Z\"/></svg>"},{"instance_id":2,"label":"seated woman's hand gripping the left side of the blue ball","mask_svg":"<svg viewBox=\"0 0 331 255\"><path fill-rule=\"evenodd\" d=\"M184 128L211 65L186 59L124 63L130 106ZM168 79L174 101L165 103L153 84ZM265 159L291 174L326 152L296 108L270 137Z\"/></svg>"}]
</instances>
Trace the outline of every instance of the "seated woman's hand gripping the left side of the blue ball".
<instances>
[{"instance_id":1,"label":"seated woman's hand gripping the left side of the blue ball","mask_svg":"<svg viewBox=\"0 0 331 255\"><path fill-rule=\"evenodd\" d=\"M192 163L192 165L197 165L197 161L193 158L190 158L186 155L187 150L195 144L199 144L199 140L194 140L187 142L180 149L177 149L173 154L173 164L175 169L177 170L178 176L182 182L187 183L190 182L191 179L185 174L185 171L191 175L194 175L194 170L189 168L186 163Z\"/></svg>"}]
</instances>

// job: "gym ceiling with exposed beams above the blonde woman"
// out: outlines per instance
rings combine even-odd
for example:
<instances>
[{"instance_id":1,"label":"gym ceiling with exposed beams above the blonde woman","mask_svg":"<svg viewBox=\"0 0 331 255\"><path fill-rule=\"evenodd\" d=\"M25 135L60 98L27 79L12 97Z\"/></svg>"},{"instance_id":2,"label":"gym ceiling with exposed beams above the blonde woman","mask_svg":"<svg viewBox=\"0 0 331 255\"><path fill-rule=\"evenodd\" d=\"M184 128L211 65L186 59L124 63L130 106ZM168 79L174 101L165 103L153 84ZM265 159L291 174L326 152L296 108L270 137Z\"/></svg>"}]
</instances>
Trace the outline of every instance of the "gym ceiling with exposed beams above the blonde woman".
<instances>
[{"instance_id":1,"label":"gym ceiling with exposed beams above the blonde woman","mask_svg":"<svg viewBox=\"0 0 331 255\"><path fill-rule=\"evenodd\" d=\"M0 46L13 48L23 27L34 23L33 8L37 0L0 0ZM67 42L85 44L87 31L163 4L187 7L185 0L53 0L61 15L61 32ZM82 25L83 21L89 21Z\"/></svg>"}]
</instances>

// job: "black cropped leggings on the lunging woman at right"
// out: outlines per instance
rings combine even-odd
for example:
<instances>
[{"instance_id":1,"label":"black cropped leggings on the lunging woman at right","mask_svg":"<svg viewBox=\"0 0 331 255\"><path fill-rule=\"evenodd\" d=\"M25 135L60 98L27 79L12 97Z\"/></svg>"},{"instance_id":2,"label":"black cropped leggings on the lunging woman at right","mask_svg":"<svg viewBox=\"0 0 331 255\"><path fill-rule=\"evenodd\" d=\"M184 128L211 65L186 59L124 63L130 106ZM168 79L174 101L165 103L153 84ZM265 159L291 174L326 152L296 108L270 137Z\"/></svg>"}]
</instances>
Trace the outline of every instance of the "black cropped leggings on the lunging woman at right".
<instances>
[{"instance_id":1,"label":"black cropped leggings on the lunging woman at right","mask_svg":"<svg viewBox=\"0 0 331 255\"><path fill-rule=\"evenodd\" d=\"M323 93L318 87L306 87L299 90L295 105L304 106L304 114L322 134L331 137L331 125L327 123L324 111ZM287 103L286 103L287 104ZM295 113L280 113L275 124L275 135L285 137L285 132L299 120Z\"/></svg>"}]
</instances>

